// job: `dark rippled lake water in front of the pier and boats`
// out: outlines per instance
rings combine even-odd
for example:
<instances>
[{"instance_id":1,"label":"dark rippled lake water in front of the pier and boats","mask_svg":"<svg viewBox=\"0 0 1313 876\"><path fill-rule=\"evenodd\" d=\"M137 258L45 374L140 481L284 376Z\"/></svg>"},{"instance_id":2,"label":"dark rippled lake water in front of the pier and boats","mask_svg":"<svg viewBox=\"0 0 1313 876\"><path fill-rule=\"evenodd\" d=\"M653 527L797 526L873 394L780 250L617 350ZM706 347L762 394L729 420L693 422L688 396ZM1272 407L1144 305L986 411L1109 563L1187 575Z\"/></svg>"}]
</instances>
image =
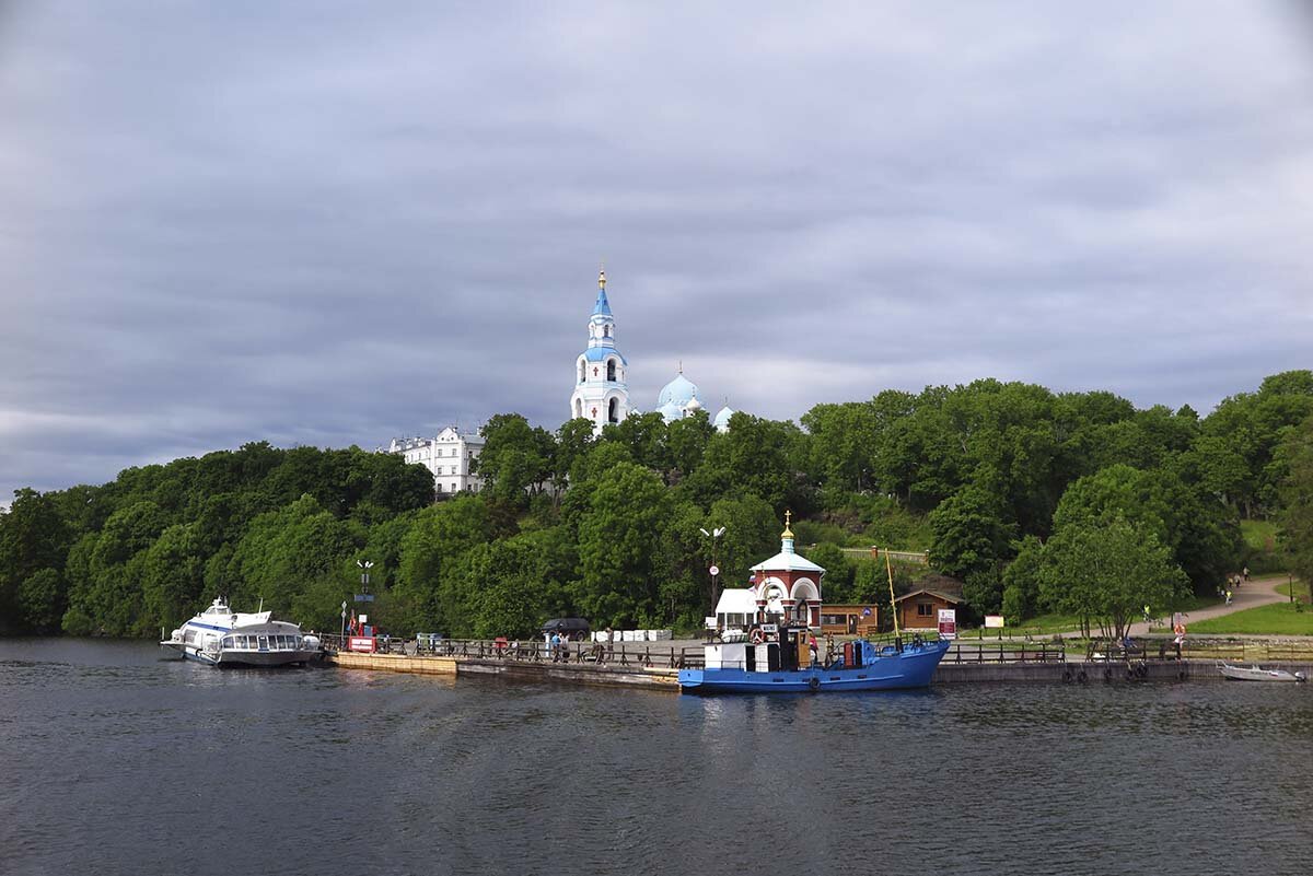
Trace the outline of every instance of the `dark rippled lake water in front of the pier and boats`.
<instances>
[{"instance_id":1,"label":"dark rippled lake water in front of the pier and boats","mask_svg":"<svg viewBox=\"0 0 1313 876\"><path fill-rule=\"evenodd\" d=\"M692 698L0 640L0 873L1308 873L1313 690Z\"/></svg>"}]
</instances>

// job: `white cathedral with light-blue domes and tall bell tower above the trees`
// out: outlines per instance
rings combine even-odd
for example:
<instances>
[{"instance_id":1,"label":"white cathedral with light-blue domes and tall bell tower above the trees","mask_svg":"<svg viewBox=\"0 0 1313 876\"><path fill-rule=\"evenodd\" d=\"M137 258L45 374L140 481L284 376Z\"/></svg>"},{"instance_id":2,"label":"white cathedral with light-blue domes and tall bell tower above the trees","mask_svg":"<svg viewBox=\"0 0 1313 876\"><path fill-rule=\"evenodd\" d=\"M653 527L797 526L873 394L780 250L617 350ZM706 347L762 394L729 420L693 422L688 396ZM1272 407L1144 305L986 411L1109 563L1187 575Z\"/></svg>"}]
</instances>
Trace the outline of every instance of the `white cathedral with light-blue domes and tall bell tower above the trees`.
<instances>
[{"instance_id":1,"label":"white cathedral with light-blue domes and tall bell tower above the trees","mask_svg":"<svg viewBox=\"0 0 1313 876\"><path fill-rule=\"evenodd\" d=\"M607 271L597 274L597 303L588 317L588 348L575 361L575 388L570 393L570 416L592 421L593 434L601 434L607 424L618 424L632 413L639 413L629 404L626 371L629 362L616 349L616 317L607 300ZM684 376L680 366L675 379L667 383L656 397L656 410L672 422L702 409L697 399L697 386ZM712 421L717 430L726 431L734 412L721 408Z\"/></svg>"}]
</instances>

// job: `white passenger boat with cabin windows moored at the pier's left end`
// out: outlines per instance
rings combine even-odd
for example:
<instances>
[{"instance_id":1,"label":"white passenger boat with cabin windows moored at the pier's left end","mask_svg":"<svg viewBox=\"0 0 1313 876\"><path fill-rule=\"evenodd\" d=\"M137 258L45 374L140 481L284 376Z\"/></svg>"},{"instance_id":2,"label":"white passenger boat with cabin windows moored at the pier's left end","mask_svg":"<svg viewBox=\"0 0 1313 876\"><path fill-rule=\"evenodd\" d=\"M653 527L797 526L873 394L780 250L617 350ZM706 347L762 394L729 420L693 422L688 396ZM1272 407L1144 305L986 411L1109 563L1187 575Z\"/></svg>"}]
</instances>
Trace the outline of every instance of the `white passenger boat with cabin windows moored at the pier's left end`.
<instances>
[{"instance_id":1,"label":"white passenger boat with cabin windows moored at the pier's left end","mask_svg":"<svg viewBox=\"0 0 1313 876\"><path fill-rule=\"evenodd\" d=\"M302 635L297 624L273 620L272 615L236 612L219 598L160 645L177 657L211 666L284 666L322 656L318 637Z\"/></svg>"}]
</instances>

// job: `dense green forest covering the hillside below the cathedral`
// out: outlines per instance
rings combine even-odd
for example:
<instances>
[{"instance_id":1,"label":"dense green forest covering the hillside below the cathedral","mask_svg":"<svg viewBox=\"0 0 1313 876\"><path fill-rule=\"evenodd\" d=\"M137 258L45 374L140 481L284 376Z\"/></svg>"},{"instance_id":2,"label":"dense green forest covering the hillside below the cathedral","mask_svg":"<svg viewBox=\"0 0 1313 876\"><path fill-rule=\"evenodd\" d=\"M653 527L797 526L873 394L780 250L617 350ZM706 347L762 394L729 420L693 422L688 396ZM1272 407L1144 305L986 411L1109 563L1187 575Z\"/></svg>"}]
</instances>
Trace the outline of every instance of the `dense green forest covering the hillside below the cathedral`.
<instances>
[{"instance_id":1,"label":"dense green forest covering the hillside below the cathedral","mask_svg":"<svg viewBox=\"0 0 1313 876\"><path fill-rule=\"evenodd\" d=\"M559 615L689 628L710 610L708 565L744 582L785 509L829 569L827 602L888 599L884 570L840 549L877 544L928 549L968 612L1117 624L1270 561L1241 519L1279 521L1284 561L1309 570L1310 414L1310 371L1204 418L997 380L822 404L801 426L738 413L726 433L702 412L597 438L583 420L550 433L499 414L483 492L436 504L429 472L399 456L248 443L17 490L0 514L0 632L152 636L221 594L332 631L358 560L394 633L524 635Z\"/></svg>"}]
</instances>

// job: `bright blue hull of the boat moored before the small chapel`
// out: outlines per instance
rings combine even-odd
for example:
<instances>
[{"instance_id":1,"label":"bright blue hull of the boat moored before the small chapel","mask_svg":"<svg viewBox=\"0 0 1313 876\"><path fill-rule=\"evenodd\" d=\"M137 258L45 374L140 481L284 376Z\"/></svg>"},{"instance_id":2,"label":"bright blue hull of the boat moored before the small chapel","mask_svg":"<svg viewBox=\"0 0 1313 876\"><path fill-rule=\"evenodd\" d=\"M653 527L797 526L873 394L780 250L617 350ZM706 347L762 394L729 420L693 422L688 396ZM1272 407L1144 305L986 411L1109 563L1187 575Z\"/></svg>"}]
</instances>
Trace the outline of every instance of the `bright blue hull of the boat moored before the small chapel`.
<instances>
[{"instance_id":1,"label":"bright blue hull of the boat moored before the small chapel","mask_svg":"<svg viewBox=\"0 0 1313 876\"><path fill-rule=\"evenodd\" d=\"M684 669L679 673L679 687L687 694L825 694L928 687L948 645L948 641L935 641L907 648L852 669Z\"/></svg>"}]
</instances>

